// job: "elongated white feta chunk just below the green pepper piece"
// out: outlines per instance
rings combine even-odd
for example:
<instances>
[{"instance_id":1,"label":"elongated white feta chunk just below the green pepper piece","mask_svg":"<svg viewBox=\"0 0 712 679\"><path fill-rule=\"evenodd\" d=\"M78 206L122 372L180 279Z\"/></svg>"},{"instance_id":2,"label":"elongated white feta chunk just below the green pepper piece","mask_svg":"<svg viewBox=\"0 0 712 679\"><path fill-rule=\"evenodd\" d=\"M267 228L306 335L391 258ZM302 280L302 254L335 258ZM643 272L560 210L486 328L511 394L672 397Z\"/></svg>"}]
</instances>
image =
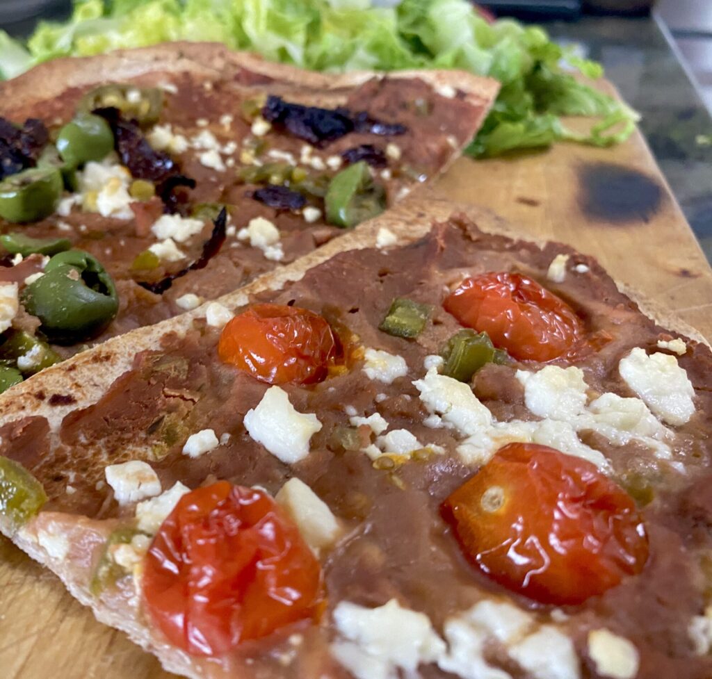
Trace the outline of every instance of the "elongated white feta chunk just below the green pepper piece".
<instances>
[{"instance_id":1,"label":"elongated white feta chunk just below the green pepper piece","mask_svg":"<svg viewBox=\"0 0 712 679\"><path fill-rule=\"evenodd\" d=\"M463 436L472 436L492 423L492 414L464 382L438 374L431 368L424 379L413 382L429 412L438 414Z\"/></svg>"}]
</instances>

